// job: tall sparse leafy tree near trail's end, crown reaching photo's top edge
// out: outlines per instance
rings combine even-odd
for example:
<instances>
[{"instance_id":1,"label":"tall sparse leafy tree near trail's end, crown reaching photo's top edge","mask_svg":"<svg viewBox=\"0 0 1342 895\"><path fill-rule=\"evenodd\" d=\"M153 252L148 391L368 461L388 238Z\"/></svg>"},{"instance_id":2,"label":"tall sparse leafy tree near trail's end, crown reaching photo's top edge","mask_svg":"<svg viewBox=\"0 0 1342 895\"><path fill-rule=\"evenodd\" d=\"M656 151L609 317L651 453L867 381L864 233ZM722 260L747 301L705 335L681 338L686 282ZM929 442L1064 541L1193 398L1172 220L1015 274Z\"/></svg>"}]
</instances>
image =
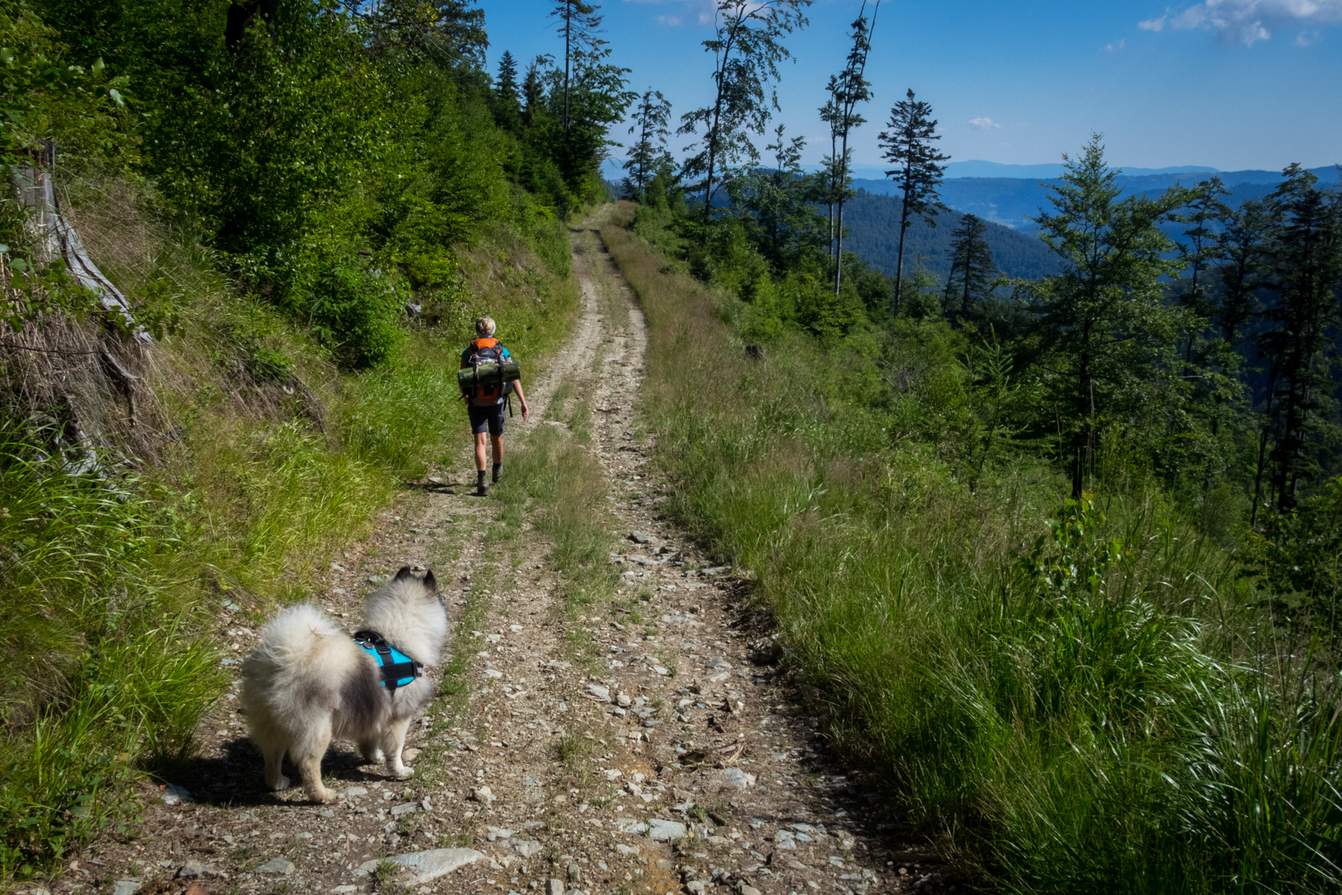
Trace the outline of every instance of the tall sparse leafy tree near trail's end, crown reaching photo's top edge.
<instances>
[{"instance_id":1,"label":"tall sparse leafy tree near trail's end, crown reaching photo's top edge","mask_svg":"<svg viewBox=\"0 0 1342 895\"><path fill-rule=\"evenodd\" d=\"M703 219L713 213L714 174L725 164L760 158L750 134L762 134L778 107L773 85L778 63L792 54L782 39L807 25L811 0L717 0L715 28L703 48L713 54L713 105L680 117L676 133L703 127L702 148L684 164L690 177L703 177Z\"/></svg>"}]
</instances>

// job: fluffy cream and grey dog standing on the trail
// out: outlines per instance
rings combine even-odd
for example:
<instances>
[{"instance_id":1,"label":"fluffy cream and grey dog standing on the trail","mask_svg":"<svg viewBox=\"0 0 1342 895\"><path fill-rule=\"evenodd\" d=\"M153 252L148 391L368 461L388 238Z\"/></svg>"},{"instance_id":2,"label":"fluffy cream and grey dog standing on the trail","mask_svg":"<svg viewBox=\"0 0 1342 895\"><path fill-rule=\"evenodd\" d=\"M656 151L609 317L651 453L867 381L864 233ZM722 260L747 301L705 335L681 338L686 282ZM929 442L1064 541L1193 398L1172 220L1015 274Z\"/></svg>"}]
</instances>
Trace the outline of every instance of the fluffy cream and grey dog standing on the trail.
<instances>
[{"instance_id":1,"label":"fluffy cream and grey dog standing on the trail","mask_svg":"<svg viewBox=\"0 0 1342 895\"><path fill-rule=\"evenodd\" d=\"M433 573L423 578L401 568L364 604L364 629L425 667L437 664L447 636L447 609ZM391 695L388 695L391 692ZM358 743L364 759L399 778L415 772L401 762L411 718L433 698L425 678L389 691L377 662L350 635L311 605L285 609L262 629L260 644L243 663L242 706L247 727L266 757L266 785L287 789L285 753L298 766L307 794L336 800L322 785L322 755L331 737Z\"/></svg>"}]
</instances>

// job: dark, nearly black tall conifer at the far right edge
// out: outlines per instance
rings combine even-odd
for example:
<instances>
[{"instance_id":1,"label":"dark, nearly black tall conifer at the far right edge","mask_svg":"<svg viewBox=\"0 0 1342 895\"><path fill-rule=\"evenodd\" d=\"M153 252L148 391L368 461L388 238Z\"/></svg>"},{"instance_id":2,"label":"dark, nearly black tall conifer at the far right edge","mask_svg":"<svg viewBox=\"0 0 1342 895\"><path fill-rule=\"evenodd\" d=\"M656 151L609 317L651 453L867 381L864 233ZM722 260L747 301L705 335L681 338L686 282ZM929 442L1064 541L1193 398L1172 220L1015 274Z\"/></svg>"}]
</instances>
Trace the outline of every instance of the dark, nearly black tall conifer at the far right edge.
<instances>
[{"instance_id":1,"label":"dark, nearly black tall conifer at the far right edge","mask_svg":"<svg viewBox=\"0 0 1342 895\"><path fill-rule=\"evenodd\" d=\"M1286 180L1270 199L1275 227L1267 246L1268 275L1263 287L1275 295L1263 311L1271 329L1255 339L1271 364L1274 390L1268 393L1268 425L1276 437L1268 458L1271 495L1276 510L1295 506L1300 479L1317 480L1318 454L1327 431L1334 392L1334 364L1329 354L1335 327L1342 325L1338 286L1342 283L1342 191L1321 189L1318 177L1299 165L1282 172ZM1276 408L1271 401L1276 397ZM1261 496L1264 471L1260 436L1253 502Z\"/></svg>"}]
</instances>

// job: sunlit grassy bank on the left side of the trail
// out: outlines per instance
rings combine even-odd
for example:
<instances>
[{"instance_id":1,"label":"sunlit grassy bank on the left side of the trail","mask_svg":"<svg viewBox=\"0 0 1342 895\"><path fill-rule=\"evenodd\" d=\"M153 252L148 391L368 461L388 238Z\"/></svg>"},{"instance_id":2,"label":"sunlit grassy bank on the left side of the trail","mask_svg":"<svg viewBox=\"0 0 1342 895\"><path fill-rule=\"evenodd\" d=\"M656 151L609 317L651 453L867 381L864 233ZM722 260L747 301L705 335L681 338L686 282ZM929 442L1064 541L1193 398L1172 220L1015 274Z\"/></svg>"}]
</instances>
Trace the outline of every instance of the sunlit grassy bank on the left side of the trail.
<instances>
[{"instance_id":1,"label":"sunlit grassy bank on the left side of the trail","mask_svg":"<svg viewBox=\"0 0 1342 895\"><path fill-rule=\"evenodd\" d=\"M0 878L40 872L107 825L133 836L130 784L189 759L227 684L212 628L309 593L408 478L452 468L475 314L535 376L578 306L561 223L497 224L458 252L463 282L439 326L407 325L392 362L344 372L134 188L71 193L109 276L127 294L169 290L181 326L140 389L156 455L110 458L95 480L35 450L31 424L0 439Z\"/></svg>"}]
</instances>

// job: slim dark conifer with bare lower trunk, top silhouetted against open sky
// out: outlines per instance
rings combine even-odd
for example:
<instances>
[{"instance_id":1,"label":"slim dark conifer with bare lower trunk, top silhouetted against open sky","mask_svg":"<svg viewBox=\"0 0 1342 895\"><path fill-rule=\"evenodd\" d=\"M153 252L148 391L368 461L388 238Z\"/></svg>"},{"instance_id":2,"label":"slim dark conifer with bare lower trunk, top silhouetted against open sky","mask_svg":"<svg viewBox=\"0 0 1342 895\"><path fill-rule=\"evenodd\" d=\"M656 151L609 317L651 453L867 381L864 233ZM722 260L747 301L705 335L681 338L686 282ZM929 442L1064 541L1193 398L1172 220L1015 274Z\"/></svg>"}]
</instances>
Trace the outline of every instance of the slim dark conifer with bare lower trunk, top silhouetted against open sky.
<instances>
[{"instance_id":1,"label":"slim dark conifer with bare lower trunk, top silhouetted against open sky","mask_svg":"<svg viewBox=\"0 0 1342 895\"><path fill-rule=\"evenodd\" d=\"M895 103L890 110L890 130L880 131L880 146L884 158L895 165L886 177L896 177L903 195L903 208L899 212L899 250L895 258L895 313L899 313L900 283L905 274L905 235L911 217L921 216L929 227L937 225L937 187L941 185L946 168L943 162L950 156L942 156L933 146L941 140L937 121L931 117L931 103L914 99L910 90L907 99Z\"/></svg>"}]
</instances>

